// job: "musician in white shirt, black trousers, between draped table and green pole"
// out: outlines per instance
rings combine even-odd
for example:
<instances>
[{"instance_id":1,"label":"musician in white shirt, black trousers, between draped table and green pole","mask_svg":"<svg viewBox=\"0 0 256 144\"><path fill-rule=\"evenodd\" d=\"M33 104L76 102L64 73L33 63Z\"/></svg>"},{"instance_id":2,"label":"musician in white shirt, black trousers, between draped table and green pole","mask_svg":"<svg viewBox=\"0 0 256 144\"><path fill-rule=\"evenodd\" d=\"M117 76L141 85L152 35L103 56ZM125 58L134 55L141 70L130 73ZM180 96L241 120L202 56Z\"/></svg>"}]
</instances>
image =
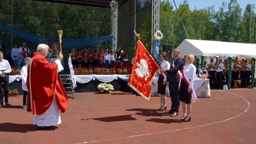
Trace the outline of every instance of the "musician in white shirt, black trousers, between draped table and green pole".
<instances>
[{"instance_id":1,"label":"musician in white shirt, black trousers, between draped table and green pole","mask_svg":"<svg viewBox=\"0 0 256 144\"><path fill-rule=\"evenodd\" d=\"M217 88L219 90L223 90L223 68L224 63L222 63L222 59L219 59L219 63L216 65L216 81L217 81Z\"/></svg>"}]
</instances>

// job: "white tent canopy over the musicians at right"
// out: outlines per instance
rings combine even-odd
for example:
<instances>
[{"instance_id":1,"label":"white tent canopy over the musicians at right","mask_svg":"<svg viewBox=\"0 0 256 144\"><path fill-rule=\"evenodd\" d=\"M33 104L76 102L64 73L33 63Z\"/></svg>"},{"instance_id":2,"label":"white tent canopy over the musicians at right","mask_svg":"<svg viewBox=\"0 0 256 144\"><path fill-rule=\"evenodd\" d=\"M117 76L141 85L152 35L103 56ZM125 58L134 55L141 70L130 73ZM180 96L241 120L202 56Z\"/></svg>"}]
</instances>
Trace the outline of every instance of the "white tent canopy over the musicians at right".
<instances>
[{"instance_id":1,"label":"white tent canopy over the musicians at right","mask_svg":"<svg viewBox=\"0 0 256 144\"><path fill-rule=\"evenodd\" d=\"M184 39L177 48L181 55L256 58L256 44Z\"/></svg>"}]
</instances>

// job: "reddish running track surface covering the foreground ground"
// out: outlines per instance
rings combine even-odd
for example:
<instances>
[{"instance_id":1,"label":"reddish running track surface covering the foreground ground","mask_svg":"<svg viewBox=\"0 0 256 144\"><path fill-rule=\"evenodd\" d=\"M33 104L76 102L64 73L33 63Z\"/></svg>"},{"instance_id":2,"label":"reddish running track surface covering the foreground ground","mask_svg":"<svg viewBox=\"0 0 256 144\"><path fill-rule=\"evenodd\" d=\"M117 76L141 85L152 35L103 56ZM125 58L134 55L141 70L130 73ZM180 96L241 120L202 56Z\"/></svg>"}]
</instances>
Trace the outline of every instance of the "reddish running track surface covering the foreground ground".
<instances>
[{"instance_id":1,"label":"reddish running track surface covering the foreground ground","mask_svg":"<svg viewBox=\"0 0 256 144\"><path fill-rule=\"evenodd\" d=\"M149 101L127 92L75 93L62 123L37 130L22 96L0 108L0 144L256 144L256 90L211 90L192 103L191 122L180 122ZM167 98L167 110L171 100Z\"/></svg>"}]
</instances>

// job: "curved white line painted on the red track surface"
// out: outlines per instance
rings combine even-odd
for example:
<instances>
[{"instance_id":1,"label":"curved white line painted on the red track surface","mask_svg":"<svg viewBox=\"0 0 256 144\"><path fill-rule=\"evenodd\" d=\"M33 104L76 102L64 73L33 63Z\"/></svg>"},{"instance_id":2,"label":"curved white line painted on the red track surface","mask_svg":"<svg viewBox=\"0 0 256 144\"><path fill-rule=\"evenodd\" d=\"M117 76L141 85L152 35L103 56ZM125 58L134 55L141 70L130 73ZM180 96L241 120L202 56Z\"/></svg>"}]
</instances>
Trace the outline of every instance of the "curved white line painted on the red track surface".
<instances>
[{"instance_id":1,"label":"curved white line painted on the red track surface","mask_svg":"<svg viewBox=\"0 0 256 144\"><path fill-rule=\"evenodd\" d=\"M239 115L235 116L235 117L239 117L240 115L244 114L245 112L247 112L247 110L250 108L250 103L247 99L243 98L242 96L239 96L237 94L234 94L234 93L231 93L231 92L228 92L228 90L223 90L224 92L227 92L227 93L230 93L230 94L233 94L233 95L236 95L242 99L244 99L245 101L247 101L247 104L248 104L248 107L247 109L240 113ZM83 143L75 143L75 144L88 144L88 143L98 143L98 142L104 142L104 141L113 141L113 140L119 140L119 139L125 139L125 138L131 138L131 137L139 137L139 136L145 136L145 135L155 135L155 134L162 134L162 133L168 133L168 132L172 132L172 131L179 131L179 130L185 130L185 129L191 129L191 128L197 128L197 127L202 127L202 126L210 126L210 125L214 125L214 124L217 124L217 123L222 123L224 121L228 121L230 119L233 119L235 117L231 117L231 118L228 118L228 119L225 119L225 120L221 120L221 121L218 121L218 122L215 122L215 123L210 123L210 124L206 124L206 125L201 125L201 126L193 126L193 127L187 127L187 128L181 128L181 129L174 129L174 130L169 130L169 131L163 131L163 132L157 132L157 133L149 133L149 134L142 134L142 135L131 135L131 136L126 136L126 137L119 137L119 138L112 138L112 139L105 139L105 140L96 140L96 141L90 141L90 142L83 142Z\"/></svg>"}]
</instances>

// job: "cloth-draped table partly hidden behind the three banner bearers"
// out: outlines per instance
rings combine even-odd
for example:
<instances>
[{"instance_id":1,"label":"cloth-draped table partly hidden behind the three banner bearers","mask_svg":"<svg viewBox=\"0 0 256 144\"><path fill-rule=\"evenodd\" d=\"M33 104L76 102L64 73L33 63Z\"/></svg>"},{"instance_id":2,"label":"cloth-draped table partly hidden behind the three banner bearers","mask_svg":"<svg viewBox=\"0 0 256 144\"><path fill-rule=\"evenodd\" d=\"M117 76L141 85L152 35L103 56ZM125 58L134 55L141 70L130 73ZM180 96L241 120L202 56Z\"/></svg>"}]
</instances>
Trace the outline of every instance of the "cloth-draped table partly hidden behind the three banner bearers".
<instances>
[{"instance_id":1,"label":"cloth-draped table partly hidden behind the three banner bearers","mask_svg":"<svg viewBox=\"0 0 256 144\"><path fill-rule=\"evenodd\" d=\"M158 77L154 77L151 83L151 96L158 96L157 93L157 80ZM209 79L196 79L194 82L194 90L197 97L210 97L210 84ZM166 96L170 96L169 93Z\"/></svg>"}]
</instances>

